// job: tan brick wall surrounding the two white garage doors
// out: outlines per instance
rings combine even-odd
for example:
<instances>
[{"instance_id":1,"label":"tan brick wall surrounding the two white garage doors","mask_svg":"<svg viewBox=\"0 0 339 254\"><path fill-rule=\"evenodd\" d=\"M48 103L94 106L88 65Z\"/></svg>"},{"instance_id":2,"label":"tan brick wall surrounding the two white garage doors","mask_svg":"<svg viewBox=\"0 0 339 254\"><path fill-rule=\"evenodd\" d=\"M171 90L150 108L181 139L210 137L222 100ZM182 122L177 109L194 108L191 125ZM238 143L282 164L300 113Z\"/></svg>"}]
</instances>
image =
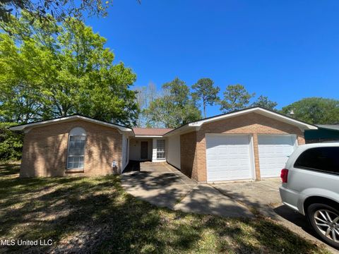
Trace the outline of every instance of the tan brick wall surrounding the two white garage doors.
<instances>
[{"instance_id":1,"label":"tan brick wall surrounding the two white garage doors","mask_svg":"<svg viewBox=\"0 0 339 254\"><path fill-rule=\"evenodd\" d=\"M189 164L186 163L185 171L191 170L191 177L197 181L207 180L206 171L206 133L225 133L225 134L249 134L253 137L254 143L254 160L256 167L256 179L260 179L260 166L258 159L258 134L295 134L297 135L298 144L305 143L304 133L296 126L270 119L266 116L262 116L256 113L244 114L242 116L234 116L232 118L215 121L212 123L205 123L201 126L199 131L189 133L191 137L196 140L196 147L194 153L187 153L183 147L181 149L182 165L183 162L195 162L190 169ZM187 134L186 134L187 135ZM181 138L184 135L181 136ZM184 137L184 140L186 138ZM189 143L185 141L181 142L181 145ZM185 153L183 154L183 152ZM194 156L194 158L191 158ZM185 162L184 162L185 163Z\"/></svg>"}]
</instances>

